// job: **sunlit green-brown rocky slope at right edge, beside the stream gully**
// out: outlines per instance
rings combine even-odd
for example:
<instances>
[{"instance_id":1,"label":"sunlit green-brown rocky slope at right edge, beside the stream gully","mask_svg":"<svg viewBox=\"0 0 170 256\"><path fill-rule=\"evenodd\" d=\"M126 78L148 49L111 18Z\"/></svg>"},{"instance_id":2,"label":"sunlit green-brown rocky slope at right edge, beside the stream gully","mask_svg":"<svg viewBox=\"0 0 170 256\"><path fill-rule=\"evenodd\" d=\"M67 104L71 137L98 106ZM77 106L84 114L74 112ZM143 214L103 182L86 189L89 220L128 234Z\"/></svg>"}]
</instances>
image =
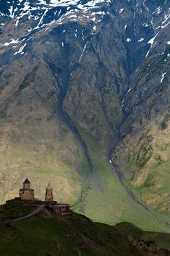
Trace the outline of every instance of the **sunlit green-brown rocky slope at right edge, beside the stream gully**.
<instances>
[{"instance_id":1,"label":"sunlit green-brown rocky slope at right edge, beside the stream gully","mask_svg":"<svg viewBox=\"0 0 170 256\"><path fill-rule=\"evenodd\" d=\"M167 117L150 125L116 149L124 182L136 197L164 218L170 213L170 123Z\"/></svg>"}]
</instances>

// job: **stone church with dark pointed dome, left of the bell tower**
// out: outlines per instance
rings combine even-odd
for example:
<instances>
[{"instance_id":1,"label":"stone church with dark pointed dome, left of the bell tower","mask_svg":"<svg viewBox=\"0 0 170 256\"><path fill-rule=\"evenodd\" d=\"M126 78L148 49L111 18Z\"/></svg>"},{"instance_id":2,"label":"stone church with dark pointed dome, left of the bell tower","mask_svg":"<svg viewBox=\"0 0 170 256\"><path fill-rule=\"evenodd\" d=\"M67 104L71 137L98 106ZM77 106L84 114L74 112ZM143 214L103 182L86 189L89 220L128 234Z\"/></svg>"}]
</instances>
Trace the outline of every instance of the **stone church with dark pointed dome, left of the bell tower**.
<instances>
[{"instance_id":1,"label":"stone church with dark pointed dome, left of the bell tower","mask_svg":"<svg viewBox=\"0 0 170 256\"><path fill-rule=\"evenodd\" d=\"M34 200L34 189L30 189L30 181L26 178L23 182L23 189L20 189L21 200Z\"/></svg>"}]
</instances>

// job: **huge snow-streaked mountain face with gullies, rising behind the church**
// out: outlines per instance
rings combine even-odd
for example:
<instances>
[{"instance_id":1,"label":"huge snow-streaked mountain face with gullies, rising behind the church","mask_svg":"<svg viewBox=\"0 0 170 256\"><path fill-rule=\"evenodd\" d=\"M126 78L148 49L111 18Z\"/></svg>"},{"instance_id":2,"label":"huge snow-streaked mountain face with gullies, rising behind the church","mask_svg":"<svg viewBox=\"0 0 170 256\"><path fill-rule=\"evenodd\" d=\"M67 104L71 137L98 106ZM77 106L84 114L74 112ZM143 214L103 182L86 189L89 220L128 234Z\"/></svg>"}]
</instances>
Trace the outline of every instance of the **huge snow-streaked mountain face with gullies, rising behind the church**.
<instances>
[{"instance_id":1,"label":"huge snow-streaked mountain face with gullies, rising behind the church","mask_svg":"<svg viewBox=\"0 0 170 256\"><path fill-rule=\"evenodd\" d=\"M37 197L52 181L59 201L94 220L161 229L169 214L169 8L0 1L1 202L28 176Z\"/></svg>"}]
</instances>

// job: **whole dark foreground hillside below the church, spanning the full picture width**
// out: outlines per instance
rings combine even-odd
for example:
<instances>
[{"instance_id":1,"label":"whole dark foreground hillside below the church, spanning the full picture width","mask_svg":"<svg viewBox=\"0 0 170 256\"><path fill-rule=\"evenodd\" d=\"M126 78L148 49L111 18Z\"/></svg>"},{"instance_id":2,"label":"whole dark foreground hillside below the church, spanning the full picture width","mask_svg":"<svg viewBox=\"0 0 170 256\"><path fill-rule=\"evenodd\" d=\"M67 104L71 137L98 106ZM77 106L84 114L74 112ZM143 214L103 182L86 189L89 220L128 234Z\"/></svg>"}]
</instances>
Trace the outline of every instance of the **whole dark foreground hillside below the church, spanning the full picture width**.
<instances>
[{"instance_id":1,"label":"whole dark foreground hillside below the church, spanning the full picture width","mask_svg":"<svg viewBox=\"0 0 170 256\"><path fill-rule=\"evenodd\" d=\"M20 202L9 202L1 205L0 220L4 210L8 219L33 212ZM0 225L1 256L170 255L169 234L143 232L130 223L94 223L75 212L62 216L45 207L30 218Z\"/></svg>"}]
</instances>

